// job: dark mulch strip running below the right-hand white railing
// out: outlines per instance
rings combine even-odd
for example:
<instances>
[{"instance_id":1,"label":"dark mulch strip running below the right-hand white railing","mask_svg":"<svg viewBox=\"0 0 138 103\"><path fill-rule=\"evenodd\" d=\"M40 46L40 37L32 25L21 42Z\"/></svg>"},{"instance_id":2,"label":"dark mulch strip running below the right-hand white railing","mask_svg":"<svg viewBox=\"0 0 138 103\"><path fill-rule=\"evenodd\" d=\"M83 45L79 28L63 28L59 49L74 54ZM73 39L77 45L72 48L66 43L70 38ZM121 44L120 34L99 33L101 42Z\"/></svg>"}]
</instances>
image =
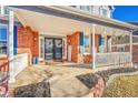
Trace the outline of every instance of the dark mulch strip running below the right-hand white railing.
<instances>
[{"instance_id":1,"label":"dark mulch strip running below the right-hand white railing","mask_svg":"<svg viewBox=\"0 0 138 103\"><path fill-rule=\"evenodd\" d=\"M138 71L138 69L132 69L132 68L112 69L112 70L99 71L99 72L97 72L97 74L100 75L101 78L103 78L105 81L107 82L112 74L131 73L131 72L136 72L136 71Z\"/></svg>"}]
</instances>

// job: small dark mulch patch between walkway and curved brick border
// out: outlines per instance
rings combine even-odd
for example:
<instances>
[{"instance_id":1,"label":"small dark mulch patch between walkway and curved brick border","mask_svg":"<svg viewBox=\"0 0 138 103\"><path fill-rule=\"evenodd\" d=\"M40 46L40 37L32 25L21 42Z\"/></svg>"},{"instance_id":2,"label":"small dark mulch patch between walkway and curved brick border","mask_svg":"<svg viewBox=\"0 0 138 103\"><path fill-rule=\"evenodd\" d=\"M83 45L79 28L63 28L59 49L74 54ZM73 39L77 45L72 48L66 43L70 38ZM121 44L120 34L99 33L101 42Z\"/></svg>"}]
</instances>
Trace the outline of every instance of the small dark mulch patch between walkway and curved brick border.
<instances>
[{"instance_id":1,"label":"small dark mulch patch between walkway and curved brick border","mask_svg":"<svg viewBox=\"0 0 138 103\"><path fill-rule=\"evenodd\" d=\"M98 78L93 73L77 75L76 78L81 81L88 89L93 87L98 83Z\"/></svg>"}]
</instances>

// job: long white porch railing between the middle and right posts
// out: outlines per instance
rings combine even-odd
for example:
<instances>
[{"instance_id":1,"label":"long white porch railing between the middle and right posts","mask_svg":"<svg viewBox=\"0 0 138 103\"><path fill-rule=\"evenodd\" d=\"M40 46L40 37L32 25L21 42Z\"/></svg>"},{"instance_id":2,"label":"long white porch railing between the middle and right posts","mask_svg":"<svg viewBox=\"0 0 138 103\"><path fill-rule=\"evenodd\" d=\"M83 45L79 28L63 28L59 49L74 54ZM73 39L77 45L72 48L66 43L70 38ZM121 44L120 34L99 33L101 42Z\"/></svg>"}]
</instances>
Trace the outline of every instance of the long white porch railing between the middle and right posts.
<instances>
[{"instance_id":1,"label":"long white porch railing between the middle and right posts","mask_svg":"<svg viewBox=\"0 0 138 103\"><path fill-rule=\"evenodd\" d=\"M130 63L130 52L97 53L96 66L125 65Z\"/></svg>"}]
</instances>

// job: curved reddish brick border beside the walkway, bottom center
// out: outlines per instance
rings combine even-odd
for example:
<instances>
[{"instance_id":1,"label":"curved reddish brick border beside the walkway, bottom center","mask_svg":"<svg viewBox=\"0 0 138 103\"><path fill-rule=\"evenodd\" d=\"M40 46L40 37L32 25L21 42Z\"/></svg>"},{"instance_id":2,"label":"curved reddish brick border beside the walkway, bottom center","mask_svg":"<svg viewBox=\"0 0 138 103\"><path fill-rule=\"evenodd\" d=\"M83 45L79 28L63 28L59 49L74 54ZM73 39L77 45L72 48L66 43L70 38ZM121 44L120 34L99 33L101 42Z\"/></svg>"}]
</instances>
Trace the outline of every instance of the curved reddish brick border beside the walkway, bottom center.
<instances>
[{"instance_id":1,"label":"curved reddish brick border beside the walkway, bottom center","mask_svg":"<svg viewBox=\"0 0 138 103\"><path fill-rule=\"evenodd\" d=\"M96 84L95 87L90 89L89 94L85 95L83 97L101 97L105 90L106 90L106 82L105 80L96 74L96 76L98 78L98 83Z\"/></svg>"}]
</instances>

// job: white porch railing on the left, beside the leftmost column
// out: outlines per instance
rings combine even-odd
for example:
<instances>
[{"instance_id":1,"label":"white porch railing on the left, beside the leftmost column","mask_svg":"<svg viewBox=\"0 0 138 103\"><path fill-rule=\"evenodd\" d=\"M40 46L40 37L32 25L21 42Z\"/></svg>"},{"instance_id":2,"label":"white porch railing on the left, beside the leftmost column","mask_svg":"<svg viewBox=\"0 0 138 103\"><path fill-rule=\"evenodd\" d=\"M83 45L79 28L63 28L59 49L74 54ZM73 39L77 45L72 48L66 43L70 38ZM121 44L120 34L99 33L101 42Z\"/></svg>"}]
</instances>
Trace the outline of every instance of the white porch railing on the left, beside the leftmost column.
<instances>
[{"instance_id":1,"label":"white porch railing on the left, beside the leftmost column","mask_svg":"<svg viewBox=\"0 0 138 103\"><path fill-rule=\"evenodd\" d=\"M14 79L22 70L28 66L28 53L17 54L12 61L10 61L9 71L10 80Z\"/></svg>"}]
</instances>

